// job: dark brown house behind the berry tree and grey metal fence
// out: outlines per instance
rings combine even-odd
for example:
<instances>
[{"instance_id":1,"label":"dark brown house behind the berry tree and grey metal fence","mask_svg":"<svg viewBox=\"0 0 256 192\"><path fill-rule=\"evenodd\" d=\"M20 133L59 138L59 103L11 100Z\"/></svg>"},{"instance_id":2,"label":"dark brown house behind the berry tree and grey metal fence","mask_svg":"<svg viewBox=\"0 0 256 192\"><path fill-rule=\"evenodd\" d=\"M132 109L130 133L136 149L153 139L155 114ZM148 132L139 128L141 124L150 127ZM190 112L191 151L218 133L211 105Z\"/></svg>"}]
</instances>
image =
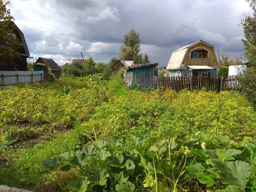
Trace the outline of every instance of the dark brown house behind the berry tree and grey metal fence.
<instances>
[{"instance_id":1,"label":"dark brown house behind the berry tree and grey metal fence","mask_svg":"<svg viewBox=\"0 0 256 192\"><path fill-rule=\"evenodd\" d=\"M20 47L17 51L19 52L19 56L21 59L19 58L15 58L14 59L14 63L15 66L6 66L6 67L0 67L0 71L27 71L27 58L31 58L29 51L28 51L28 47L24 38L24 35L22 33L22 31L17 27L17 25L15 25L15 29L12 31L11 35L15 38L15 39L19 39L20 42L22 42L22 47ZM1 51L1 50L0 50ZM32 57L33 58L33 57Z\"/></svg>"}]
</instances>

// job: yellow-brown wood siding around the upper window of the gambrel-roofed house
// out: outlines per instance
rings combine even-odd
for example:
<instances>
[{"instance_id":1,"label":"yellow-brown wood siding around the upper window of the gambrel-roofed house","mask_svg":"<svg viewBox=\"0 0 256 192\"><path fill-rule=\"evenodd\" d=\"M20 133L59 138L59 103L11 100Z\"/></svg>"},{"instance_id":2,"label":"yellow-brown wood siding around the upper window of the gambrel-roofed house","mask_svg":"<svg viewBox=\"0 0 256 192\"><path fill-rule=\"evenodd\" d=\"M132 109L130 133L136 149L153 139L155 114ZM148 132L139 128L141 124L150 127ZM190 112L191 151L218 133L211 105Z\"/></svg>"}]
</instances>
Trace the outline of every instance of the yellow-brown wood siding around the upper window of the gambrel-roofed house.
<instances>
[{"instance_id":1,"label":"yellow-brown wood siding around the upper window of the gambrel-roofed house","mask_svg":"<svg viewBox=\"0 0 256 192\"><path fill-rule=\"evenodd\" d=\"M190 51L197 48L197 47L202 47L202 48L210 50L209 57L208 58L202 58L202 59L191 59L190 58ZM194 46L192 46L188 49L187 54L184 58L183 64L185 66L188 66L188 65L207 65L207 66L216 66L216 67L218 66L217 58L214 54L213 48L208 46L208 45L205 45L203 43L199 43L199 44L194 45Z\"/></svg>"}]
</instances>

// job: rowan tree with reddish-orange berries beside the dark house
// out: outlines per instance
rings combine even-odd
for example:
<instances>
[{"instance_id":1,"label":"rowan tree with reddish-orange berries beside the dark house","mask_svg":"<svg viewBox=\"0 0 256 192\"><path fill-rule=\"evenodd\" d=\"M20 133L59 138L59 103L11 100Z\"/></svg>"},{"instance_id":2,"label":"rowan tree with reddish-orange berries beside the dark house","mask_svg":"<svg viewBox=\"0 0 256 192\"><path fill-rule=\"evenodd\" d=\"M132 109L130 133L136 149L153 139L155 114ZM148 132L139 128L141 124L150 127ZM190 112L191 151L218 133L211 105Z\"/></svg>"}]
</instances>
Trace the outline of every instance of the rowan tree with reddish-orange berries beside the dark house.
<instances>
[{"instance_id":1,"label":"rowan tree with reddish-orange berries beside the dark house","mask_svg":"<svg viewBox=\"0 0 256 192\"><path fill-rule=\"evenodd\" d=\"M6 9L7 4L9 1L4 3L0 0L0 67L15 66L13 60L20 58L17 49L22 46L19 39L15 39L12 35L15 24L13 16L10 15L10 9Z\"/></svg>"}]
</instances>

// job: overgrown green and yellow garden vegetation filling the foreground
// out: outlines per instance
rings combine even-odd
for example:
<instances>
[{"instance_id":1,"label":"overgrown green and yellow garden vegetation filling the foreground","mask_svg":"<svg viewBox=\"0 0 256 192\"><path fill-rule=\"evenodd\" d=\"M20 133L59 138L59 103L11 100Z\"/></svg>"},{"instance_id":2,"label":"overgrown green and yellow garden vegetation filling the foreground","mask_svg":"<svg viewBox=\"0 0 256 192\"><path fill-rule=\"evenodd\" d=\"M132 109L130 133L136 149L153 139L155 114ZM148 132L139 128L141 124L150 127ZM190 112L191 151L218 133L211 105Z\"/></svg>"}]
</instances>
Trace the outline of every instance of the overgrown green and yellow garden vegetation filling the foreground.
<instances>
[{"instance_id":1,"label":"overgrown green and yellow garden vegetation filling the foreground","mask_svg":"<svg viewBox=\"0 0 256 192\"><path fill-rule=\"evenodd\" d=\"M1 87L0 106L0 184L33 191L254 186L256 114L237 92L140 92L95 74ZM247 170L244 179L234 166Z\"/></svg>"}]
</instances>

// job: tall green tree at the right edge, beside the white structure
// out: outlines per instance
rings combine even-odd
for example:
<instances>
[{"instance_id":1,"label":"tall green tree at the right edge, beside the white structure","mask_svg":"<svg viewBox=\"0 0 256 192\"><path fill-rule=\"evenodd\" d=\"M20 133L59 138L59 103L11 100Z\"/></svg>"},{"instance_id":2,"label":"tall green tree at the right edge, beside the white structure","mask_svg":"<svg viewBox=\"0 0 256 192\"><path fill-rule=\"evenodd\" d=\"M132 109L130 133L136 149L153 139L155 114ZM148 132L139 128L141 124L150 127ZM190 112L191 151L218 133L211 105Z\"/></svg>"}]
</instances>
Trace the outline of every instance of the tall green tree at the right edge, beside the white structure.
<instances>
[{"instance_id":1,"label":"tall green tree at the right edge, beside the white structure","mask_svg":"<svg viewBox=\"0 0 256 192\"><path fill-rule=\"evenodd\" d=\"M256 0L246 0L251 11L244 15L241 26L244 31L244 59L248 61L247 70L239 74L239 90L256 109Z\"/></svg>"}]
</instances>

